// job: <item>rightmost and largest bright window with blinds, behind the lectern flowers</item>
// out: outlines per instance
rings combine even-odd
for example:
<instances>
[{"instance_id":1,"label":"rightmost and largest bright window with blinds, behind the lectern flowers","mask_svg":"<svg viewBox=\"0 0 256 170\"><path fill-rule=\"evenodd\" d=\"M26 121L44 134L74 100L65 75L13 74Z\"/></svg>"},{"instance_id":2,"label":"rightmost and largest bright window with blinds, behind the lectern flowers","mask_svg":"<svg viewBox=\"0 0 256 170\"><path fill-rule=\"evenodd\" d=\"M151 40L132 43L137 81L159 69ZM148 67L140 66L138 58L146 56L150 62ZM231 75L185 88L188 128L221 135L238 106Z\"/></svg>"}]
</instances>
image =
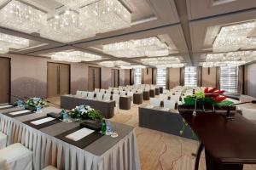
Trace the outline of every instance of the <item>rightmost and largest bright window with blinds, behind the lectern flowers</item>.
<instances>
[{"instance_id":1,"label":"rightmost and largest bright window with blinds, behind the lectern flowers","mask_svg":"<svg viewBox=\"0 0 256 170\"><path fill-rule=\"evenodd\" d=\"M236 66L220 67L219 84L221 90L228 93L237 93L238 68Z\"/></svg>"}]
</instances>

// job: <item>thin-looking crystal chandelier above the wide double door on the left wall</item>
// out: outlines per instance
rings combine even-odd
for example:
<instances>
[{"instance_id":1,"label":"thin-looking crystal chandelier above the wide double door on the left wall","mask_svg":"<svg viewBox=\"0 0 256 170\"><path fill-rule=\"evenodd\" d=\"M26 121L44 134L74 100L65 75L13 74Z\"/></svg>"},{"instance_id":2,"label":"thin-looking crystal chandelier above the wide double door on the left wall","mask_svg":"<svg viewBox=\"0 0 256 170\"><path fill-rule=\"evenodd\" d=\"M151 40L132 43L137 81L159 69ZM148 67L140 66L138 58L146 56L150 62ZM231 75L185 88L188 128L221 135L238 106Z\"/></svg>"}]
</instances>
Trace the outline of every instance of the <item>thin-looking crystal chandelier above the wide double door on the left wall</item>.
<instances>
[{"instance_id":1,"label":"thin-looking crystal chandelier above the wide double door on the left wall","mask_svg":"<svg viewBox=\"0 0 256 170\"><path fill-rule=\"evenodd\" d=\"M51 59L67 61L67 62L81 62L81 61L96 61L102 59L102 56L96 54L84 53L81 51L65 51L50 54Z\"/></svg>"}]
</instances>

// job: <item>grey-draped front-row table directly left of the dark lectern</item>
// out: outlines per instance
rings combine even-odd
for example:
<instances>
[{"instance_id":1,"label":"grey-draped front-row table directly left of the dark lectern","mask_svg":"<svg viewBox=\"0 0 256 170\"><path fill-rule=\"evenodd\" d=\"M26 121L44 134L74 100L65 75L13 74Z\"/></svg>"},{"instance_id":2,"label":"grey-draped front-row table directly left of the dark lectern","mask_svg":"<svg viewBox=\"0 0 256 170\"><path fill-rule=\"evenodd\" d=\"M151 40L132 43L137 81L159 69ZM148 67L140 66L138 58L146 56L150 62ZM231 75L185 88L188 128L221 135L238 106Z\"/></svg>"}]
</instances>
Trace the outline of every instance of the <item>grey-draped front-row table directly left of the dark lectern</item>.
<instances>
[{"instance_id":1,"label":"grey-draped front-row table directly left of the dark lectern","mask_svg":"<svg viewBox=\"0 0 256 170\"><path fill-rule=\"evenodd\" d=\"M190 128L185 128L183 134L183 117L177 110L166 110L162 107L152 105L141 105L139 107L139 127L147 127L164 133L171 133L188 139L196 139Z\"/></svg>"}]
</instances>

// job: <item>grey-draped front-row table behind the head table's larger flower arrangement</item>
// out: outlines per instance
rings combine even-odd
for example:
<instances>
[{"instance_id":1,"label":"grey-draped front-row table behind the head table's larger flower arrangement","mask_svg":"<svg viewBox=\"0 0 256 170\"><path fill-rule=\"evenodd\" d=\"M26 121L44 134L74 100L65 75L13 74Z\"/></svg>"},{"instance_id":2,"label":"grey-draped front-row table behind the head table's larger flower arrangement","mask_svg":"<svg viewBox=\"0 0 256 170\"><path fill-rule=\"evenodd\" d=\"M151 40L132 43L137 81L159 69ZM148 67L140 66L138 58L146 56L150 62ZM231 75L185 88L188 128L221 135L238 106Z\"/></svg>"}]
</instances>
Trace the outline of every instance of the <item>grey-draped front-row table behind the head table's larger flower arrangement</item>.
<instances>
[{"instance_id":1,"label":"grey-draped front-row table behind the head table's larger flower arrangement","mask_svg":"<svg viewBox=\"0 0 256 170\"><path fill-rule=\"evenodd\" d=\"M72 110L78 105L90 105L92 108L102 111L102 116L108 119L114 115L115 101L113 100L85 99L72 94L61 96L61 108Z\"/></svg>"}]
</instances>

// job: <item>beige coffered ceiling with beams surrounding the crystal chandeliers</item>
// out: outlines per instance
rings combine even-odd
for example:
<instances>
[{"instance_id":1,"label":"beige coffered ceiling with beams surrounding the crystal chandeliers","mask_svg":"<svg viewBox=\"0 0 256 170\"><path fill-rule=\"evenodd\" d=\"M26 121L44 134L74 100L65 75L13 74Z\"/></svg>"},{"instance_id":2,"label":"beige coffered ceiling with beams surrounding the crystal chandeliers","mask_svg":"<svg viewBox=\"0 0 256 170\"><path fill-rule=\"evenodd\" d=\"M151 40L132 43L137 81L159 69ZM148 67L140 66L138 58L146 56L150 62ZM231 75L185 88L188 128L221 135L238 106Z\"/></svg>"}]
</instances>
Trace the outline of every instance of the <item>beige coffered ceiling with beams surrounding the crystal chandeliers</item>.
<instances>
[{"instance_id":1,"label":"beige coffered ceiling with beams surrounding the crystal chandeliers","mask_svg":"<svg viewBox=\"0 0 256 170\"><path fill-rule=\"evenodd\" d=\"M22 1L42 9L48 14L48 18L67 9L57 0ZM96 33L94 37L81 37L73 42L57 42L40 37L38 33L25 33L4 26L0 26L0 32L31 40L32 45L29 48L11 50L10 53L13 54L45 56L74 49L99 54L105 61L124 60L134 65L142 64L142 59L147 56L116 57L105 53L102 50L103 45L157 37L169 47L169 55L166 57L178 56L182 63L198 65L205 60L203 56L213 53L212 44L223 26L251 20L255 22L256 19L255 0L119 0L119 2L131 12L131 27ZM3 8L4 4L1 6ZM256 37L256 29L250 33L250 37Z\"/></svg>"}]
</instances>

